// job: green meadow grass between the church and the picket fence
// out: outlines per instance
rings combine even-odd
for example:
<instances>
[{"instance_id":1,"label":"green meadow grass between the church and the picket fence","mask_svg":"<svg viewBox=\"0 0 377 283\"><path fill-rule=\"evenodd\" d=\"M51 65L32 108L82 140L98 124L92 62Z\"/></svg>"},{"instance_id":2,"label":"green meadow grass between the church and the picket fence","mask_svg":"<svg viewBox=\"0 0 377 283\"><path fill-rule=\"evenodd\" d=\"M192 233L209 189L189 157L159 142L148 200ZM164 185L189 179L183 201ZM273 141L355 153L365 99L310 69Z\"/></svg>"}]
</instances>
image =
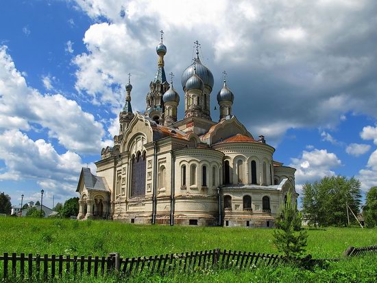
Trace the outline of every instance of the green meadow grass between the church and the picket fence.
<instances>
[{"instance_id":1,"label":"green meadow grass between the church and the picket fence","mask_svg":"<svg viewBox=\"0 0 377 283\"><path fill-rule=\"evenodd\" d=\"M306 253L339 257L348 246L377 244L377 229L308 230ZM0 253L48 253L122 257L149 256L204 249L277 253L271 229L130 225L116 221L1 218Z\"/></svg>"}]
</instances>

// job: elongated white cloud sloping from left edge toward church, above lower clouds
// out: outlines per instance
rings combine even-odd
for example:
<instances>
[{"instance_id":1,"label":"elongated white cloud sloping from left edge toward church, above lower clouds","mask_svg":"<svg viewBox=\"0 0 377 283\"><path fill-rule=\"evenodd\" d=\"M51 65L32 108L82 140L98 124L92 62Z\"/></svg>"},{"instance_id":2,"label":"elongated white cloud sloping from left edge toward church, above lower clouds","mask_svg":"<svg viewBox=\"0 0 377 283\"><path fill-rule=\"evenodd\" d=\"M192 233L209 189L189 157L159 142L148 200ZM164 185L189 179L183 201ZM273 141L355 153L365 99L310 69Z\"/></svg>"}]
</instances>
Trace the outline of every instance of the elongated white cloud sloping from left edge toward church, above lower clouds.
<instances>
[{"instance_id":1,"label":"elongated white cloud sloping from left edge toward church, above lower clouds","mask_svg":"<svg viewBox=\"0 0 377 283\"><path fill-rule=\"evenodd\" d=\"M45 82L51 89L51 81ZM74 100L61 94L43 95L27 86L4 46L0 47L0 93L0 128L28 130L29 123L36 123L69 150L85 154L101 150L102 124Z\"/></svg>"}]
</instances>

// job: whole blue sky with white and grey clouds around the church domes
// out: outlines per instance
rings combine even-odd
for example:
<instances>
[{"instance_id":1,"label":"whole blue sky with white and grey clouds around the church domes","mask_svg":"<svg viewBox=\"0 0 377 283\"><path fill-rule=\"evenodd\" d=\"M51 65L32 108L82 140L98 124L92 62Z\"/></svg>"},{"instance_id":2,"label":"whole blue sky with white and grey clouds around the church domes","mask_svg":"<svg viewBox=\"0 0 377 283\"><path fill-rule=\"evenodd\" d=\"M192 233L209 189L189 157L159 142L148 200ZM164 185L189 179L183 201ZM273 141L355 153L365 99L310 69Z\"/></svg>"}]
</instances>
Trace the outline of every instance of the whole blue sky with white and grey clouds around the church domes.
<instances>
[{"instance_id":1,"label":"whole blue sky with white and grey clouds around the church domes","mask_svg":"<svg viewBox=\"0 0 377 283\"><path fill-rule=\"evenodd\" d=\"M80 168L95 170L117 134L129 72L145 109L162 29L181 98L198 40L211 108L225 69L234 114L297 168L298 190L342 174L365 192L377 185L376 14L372 0L2 1L0 191L13 205L41 189L50 206L76 196Z\"/></svg>"}]
</instances>

